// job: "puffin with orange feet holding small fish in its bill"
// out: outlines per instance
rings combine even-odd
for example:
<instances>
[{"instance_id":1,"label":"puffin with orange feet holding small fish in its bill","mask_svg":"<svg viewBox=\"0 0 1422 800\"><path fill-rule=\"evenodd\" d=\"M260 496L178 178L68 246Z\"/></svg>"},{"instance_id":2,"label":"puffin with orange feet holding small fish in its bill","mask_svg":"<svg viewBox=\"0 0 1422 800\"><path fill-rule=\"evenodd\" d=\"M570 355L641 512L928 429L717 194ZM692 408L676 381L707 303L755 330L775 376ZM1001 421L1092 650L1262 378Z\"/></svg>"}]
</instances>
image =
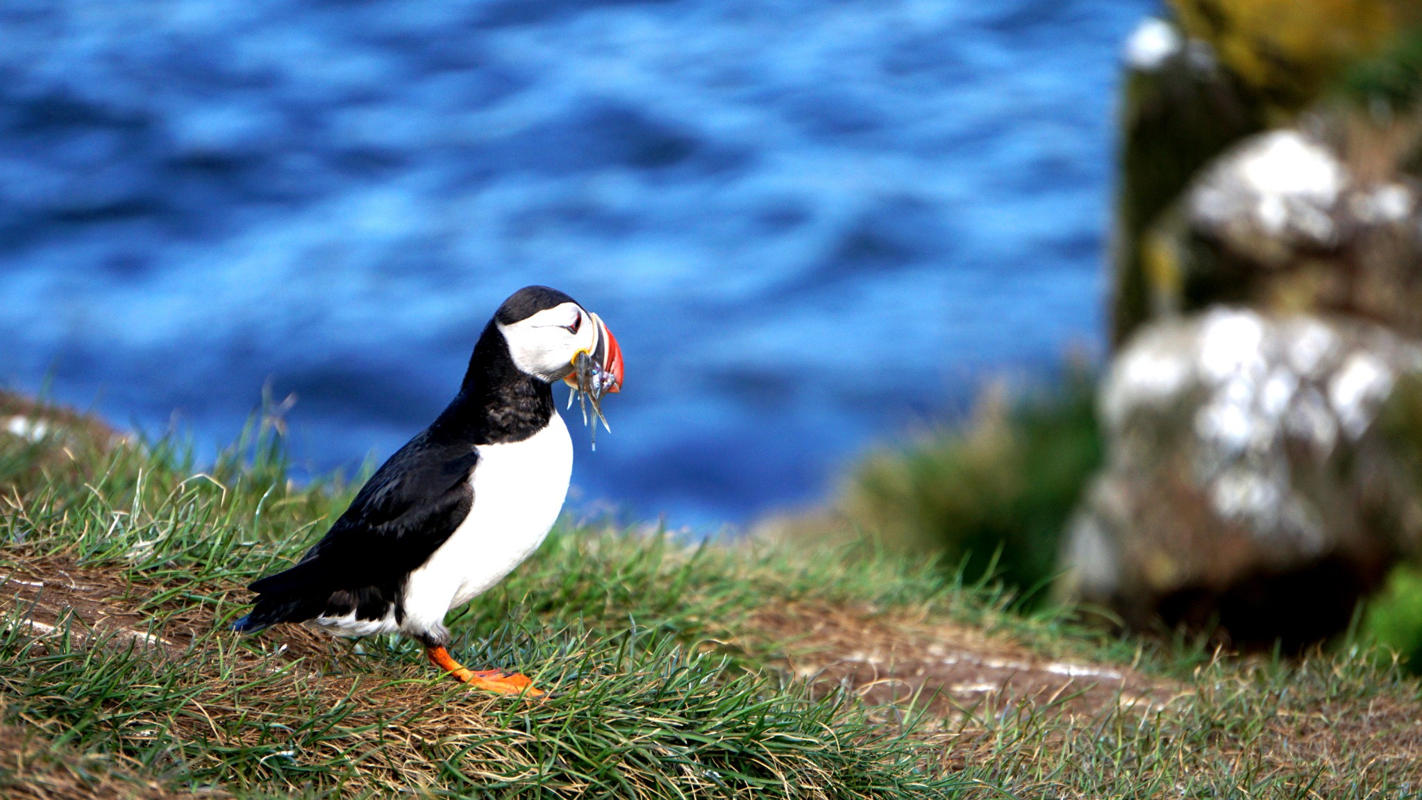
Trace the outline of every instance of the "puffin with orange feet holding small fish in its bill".
<instances>
[{"instance_id":1,"label":"puffin with orange feet holding small fish in its bill","mask_svg":"<svg viewBox=\"0 0 1422 800\"><path fill-rule=\"evenodd\" d=\"M542 695L519 672L456 662L444 619L532 555L563 508L573 441L553 404L559 380L600 419L600 397L621 390L621 349L563 292L525 286L483 327L449 406L375 470L300 562L247 586L253 608L232 629L401 633L456 680Z\"/></svg>"}]
</instances>

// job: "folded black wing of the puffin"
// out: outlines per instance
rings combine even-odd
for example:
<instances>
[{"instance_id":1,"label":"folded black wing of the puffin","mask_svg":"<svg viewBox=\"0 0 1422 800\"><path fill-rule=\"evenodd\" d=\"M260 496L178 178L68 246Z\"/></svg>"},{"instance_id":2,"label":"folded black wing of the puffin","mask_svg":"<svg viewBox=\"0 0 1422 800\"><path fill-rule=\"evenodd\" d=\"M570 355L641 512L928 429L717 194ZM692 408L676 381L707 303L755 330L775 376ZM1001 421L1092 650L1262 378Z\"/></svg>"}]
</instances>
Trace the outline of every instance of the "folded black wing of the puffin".
<instances>
[{"instance_id":1,"label":"folded black wing of the puffin","mask_svg":"<svg viewBox=\"0 0 1422 800\"><path fill-rule=\"evenodd\" d=\"M424 431L395 451L296 567L256 581L263 595L390 586L437 551L474 505L479 451Z\"/></svg>"}]
</instances>

